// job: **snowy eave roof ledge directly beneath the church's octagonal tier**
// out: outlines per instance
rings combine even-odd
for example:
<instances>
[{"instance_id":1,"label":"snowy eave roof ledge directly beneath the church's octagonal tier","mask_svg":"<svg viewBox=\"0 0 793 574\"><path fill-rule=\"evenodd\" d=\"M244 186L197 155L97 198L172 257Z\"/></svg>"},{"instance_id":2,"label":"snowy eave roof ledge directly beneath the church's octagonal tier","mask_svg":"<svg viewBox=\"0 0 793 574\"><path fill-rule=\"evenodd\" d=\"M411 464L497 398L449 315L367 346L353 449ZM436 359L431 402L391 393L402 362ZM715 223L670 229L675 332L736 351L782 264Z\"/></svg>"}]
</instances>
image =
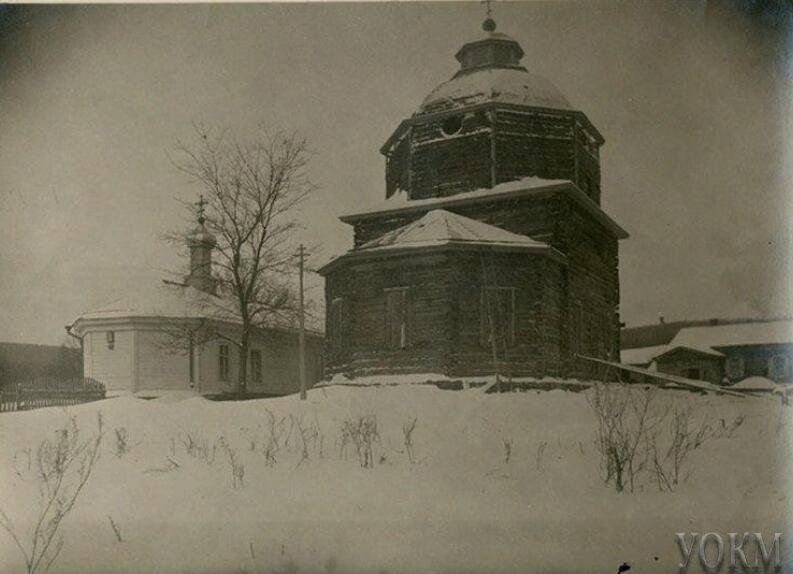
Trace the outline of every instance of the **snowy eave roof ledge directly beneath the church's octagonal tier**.
<instances>
[{"instance_id":1,"label":"snowy eave roof ledge directly beneath the church's octagonal tier","mask_svg":"<svg viewBox=\"0 0 793 574\"><path fill-rule=\"evenodd\" d=\"M493 199L513 199L526 195L542 194L562 191L576 201L606 227L611 229L617 237L624 239L628 232L611 219L594 201L578 189L567 179L542 179L540 177L524 177L514 181L500 183L493 187L483 187L446 197L429 197L426 199L409 199L405 192L395 193L391 197L380 200L357 213L342 215L345 223L353 223L378 215L391 215L409 211L424 211L426 209L447 208L464 203L491 201Z\"/></svg>"}]
</instances>

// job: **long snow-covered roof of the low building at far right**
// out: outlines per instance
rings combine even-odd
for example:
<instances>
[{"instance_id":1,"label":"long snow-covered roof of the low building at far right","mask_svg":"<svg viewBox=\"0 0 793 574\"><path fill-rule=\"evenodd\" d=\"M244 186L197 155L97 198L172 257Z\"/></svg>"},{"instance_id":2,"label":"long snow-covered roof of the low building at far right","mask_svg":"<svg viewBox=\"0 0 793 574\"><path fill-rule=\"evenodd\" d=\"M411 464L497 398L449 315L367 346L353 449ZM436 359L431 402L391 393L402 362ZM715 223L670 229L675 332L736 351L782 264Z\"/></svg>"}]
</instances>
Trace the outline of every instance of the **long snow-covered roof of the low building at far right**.
<instances>
[{"instance_id":1,"label":"long snow-covered roof of the low building at far right","mask_svg":"<svg viewBox=\"0 0 793 574\"><path fill-rule=\"evenodd\" d=\"M793 320L688 327L670 345L712 349L778 343L793 343Z\"/></svg>"}]
</instances>

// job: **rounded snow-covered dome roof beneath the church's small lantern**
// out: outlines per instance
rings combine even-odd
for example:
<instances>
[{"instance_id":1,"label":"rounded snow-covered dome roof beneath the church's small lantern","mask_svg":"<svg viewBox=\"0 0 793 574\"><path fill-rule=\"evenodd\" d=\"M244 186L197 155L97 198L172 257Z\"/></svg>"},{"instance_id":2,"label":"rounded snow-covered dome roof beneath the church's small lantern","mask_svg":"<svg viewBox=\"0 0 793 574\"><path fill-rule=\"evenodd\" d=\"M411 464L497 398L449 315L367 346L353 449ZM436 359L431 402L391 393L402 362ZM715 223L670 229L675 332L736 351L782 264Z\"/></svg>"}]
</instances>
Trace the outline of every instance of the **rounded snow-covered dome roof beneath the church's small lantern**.
<instances>
[{"instance_id":1,"label":"rounded snow-covered dome roof beneath the church's small lantern","mask_svg":"<svg viewBox=\"0 0 793 574\"><path fill-rule=\"evenodd\" d=\"M420 113L485 102L572 110L550 81L521 68L485 68L442 83L424 99Z\"/></svg>"}]
</instances>

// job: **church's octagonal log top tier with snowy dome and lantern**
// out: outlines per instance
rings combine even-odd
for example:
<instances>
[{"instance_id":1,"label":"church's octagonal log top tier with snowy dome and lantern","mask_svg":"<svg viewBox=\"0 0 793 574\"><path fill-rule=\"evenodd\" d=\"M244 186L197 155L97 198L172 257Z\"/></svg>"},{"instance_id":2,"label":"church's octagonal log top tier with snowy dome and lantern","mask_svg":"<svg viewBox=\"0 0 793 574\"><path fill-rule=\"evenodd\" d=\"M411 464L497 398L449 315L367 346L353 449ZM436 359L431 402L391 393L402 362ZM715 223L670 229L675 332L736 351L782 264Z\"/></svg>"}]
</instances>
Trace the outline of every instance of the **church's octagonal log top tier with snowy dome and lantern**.
<instances>
[{"instance_id":1,"label":"church's octagonal log top tier with snowy dome and lantern","mask_svg":"<svg viewBox=\"0 0 793 574\"><path fill-rule=\"evenodd\" d=\"M490 18L482 28L455 55L459 70L381 148L386 197L449 196L534 176L571 180L599 203L600 133L521 64L515 39Z\"/></svg>"}]
</instances>

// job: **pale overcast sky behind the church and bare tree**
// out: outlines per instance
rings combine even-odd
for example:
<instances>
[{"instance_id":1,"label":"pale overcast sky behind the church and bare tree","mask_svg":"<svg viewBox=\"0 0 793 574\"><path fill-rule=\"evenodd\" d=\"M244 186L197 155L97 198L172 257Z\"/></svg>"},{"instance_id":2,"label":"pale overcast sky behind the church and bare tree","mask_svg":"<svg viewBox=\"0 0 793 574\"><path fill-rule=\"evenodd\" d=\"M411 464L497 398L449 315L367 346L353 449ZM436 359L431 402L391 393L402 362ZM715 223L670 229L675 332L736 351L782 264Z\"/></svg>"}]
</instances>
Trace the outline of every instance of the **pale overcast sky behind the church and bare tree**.
<instances>
[{"instance_id":1,"label":"pale overcast sky behind the church and bare tree","mask_svg":"<svg viewBox=\"0 0 793 574\"><path fill-rule=\"evenodd\" d=\"M319 186L302 239L351 245L378 149L457 69L479 3L36 7L0 29L0 341L59 343L180 265L191 123L295 128ZM778 29L700 3L498 3L523 64L606 138L622 318L791 312L790 67ZM790 53L787 47L787 54ZM312 282L321 297L321 283Z\"/></svg>"}]
</instances>

